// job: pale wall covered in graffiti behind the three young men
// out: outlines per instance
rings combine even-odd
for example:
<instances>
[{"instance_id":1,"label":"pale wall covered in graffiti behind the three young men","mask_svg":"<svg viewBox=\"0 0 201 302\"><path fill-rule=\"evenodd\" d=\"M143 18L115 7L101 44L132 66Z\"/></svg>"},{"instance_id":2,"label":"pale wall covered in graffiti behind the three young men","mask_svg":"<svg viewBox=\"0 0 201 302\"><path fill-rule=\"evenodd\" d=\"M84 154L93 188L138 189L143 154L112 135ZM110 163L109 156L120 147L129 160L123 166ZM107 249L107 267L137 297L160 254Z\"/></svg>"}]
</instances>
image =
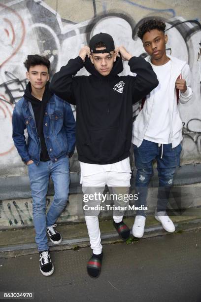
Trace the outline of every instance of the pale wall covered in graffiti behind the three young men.
<instances>
[{"instance_id":1,"label":"pale wall covered in graffiti behind the three young men","mask_svg":"<svg viewBox=\"0 0 201 302\"><path fill-rule=\"evenodd\" d=\"M184 137L182 163L201 162L201 2L190 2L1 0L0 176L26 173L13 145L11 120L27 83L23 65L27 55L46 55L54 74L78 55L90 37L107 32L116 45L124 45L135 56L146 57L136 33L138 25L152 16L163 17L167 22L167 52L190 65L194 97L188 104L179 105ZM129 74L128 64L124 67L123 74ZM79 75L87 75L86 70ZM73 112L76 116L75 107ZM77 169L78 165L74 167Z\"/></svg>"}]
</instances>

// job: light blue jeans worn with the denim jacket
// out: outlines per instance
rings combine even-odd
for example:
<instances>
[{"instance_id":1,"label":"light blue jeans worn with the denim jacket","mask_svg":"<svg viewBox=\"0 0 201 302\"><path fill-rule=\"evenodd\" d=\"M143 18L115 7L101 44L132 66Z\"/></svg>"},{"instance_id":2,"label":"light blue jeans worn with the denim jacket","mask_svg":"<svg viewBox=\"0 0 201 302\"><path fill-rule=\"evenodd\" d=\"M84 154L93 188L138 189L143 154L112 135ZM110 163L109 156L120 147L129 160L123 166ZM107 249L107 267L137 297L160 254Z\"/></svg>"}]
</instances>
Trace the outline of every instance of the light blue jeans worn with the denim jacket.
<instances>
[{"instance_id":1,"label":"light blue jeans worn with the denim jacket","mask_svg":"<svg viewBox=\"0 0 201 302\"><path fill-rule=\"evenodd\" d=\"M70 182L69 158L64 157L57 162L40 161L38 166L33 162L28 165L28 172L33 198L35 242L40 252L48 250L46 227L55 224L67 205ZM54 183L55 195L46 216L46 194L50 176Z\"/></svg>"}]
</instances>

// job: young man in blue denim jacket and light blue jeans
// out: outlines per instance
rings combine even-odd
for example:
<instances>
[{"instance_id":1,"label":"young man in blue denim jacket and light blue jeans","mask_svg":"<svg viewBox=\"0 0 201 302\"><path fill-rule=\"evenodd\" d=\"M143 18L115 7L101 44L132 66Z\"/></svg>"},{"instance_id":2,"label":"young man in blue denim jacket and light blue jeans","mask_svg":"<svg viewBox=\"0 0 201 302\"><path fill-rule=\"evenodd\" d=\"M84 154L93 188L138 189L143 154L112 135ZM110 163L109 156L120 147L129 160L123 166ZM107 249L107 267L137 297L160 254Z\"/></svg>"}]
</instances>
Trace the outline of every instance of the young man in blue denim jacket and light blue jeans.
<instances>
[{"instance_id":1,"label":"young man in blue denim jacket and light blue jeans","mask_svg":"<svg viewBox=\"0 0 201 302\"><path fill-rule=\"evenodd\" d=\"M55 222L68 199L69 157L75 148L75 119L70 105L49 90L50 61L39 55L28 55L24 65L30 82L13 111L13 140L28 166L40 271L48 276L53 273L54 266L50 259L47 233L54 244L62 241ZM28 143L25 141L25 128ZM55 195L46 215L50 176Z\"/></svg>"}]
</instances>

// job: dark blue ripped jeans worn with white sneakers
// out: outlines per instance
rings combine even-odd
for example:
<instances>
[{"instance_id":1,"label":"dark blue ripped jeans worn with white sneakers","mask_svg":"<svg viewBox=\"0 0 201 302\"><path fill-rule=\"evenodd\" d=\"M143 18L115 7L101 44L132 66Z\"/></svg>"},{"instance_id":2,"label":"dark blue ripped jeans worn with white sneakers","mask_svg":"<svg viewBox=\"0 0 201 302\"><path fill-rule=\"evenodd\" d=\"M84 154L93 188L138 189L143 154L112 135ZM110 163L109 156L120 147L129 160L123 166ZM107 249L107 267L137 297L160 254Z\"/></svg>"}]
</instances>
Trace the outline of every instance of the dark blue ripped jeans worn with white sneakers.
<instances>
[{"instance_id":1,"label":"dark blue ripped jeans worn with white sneakers","mask_svg":"<svg viewBox=\"0 0 201 302\"><path fill-rule=\"evenodd\" d=\"M173 176L176 167L180 165L181 144L172 149L171 144L162 145L143 140L137 148L134 145L134 161L137 168L135 187L139 192L137 206L146 206L148 185L153 175L153 160L157 160L159 176L157 212L164 212L167 208L170 187L173 185ZM161 158L162 155L162 158ZM137 210L137 215L146 216L143 210Z\"/></svg>"}]
</instances>

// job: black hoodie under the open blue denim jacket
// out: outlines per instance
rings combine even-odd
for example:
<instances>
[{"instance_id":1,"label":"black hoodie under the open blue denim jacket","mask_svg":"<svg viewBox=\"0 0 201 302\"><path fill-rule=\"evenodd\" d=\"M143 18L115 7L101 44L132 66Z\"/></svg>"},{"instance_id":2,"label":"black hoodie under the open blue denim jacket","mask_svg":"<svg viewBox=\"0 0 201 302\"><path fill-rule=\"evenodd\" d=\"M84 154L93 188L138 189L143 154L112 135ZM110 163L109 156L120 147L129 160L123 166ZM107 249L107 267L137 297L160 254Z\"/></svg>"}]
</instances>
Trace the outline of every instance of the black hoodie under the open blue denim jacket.
<instances>
[{"instance_id":1,"label":"black hoodie under the open blue denim jacket","mask_svg":"<svg viewBox=\"0 0 201 302\"><path fill-rule=\"evenodd\" d=\"M24 98L32 103L37 134L40 138L40 146L41 146L40 161L50 160L47 147L45 144L44 133L43 133L43 118L45 114L45 107L48 101L50 100L52 94L53 93L49 90L49 82L46 83L45 91L42 96L42 101L36 99L32 95L32 86L30 82L27 84L24 94Z\"/></svg>"}]
</instances>

